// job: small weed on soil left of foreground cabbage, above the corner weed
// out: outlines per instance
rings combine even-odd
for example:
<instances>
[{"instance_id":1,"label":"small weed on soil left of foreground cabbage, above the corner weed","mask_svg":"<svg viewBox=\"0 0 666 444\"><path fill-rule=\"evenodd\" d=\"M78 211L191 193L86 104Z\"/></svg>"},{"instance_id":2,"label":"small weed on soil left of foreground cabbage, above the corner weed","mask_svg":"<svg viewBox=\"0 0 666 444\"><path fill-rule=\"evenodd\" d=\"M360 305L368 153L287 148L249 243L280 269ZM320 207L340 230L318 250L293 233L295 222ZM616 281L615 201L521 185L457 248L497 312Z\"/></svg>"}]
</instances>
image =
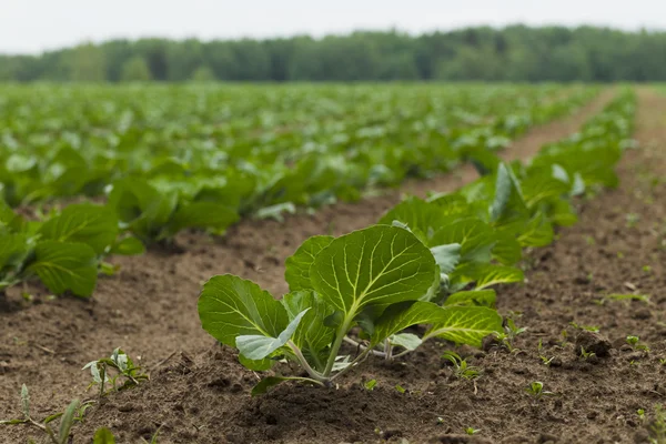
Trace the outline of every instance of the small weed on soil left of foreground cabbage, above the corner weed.
<instances>
[{"instance_id":1,"label":"small weed on soil left of foreground cabbage, above the corner weed","mask_svg":"<svg viewBox=\"0 0 666 444\"><path fill-rule=\"evenodd\" d=\"M130 356L120 349L115 349L111 357L89 362L83 367L83 370L85 369L90 369L90 374L92 375L92 382L88 389L99 385L100 396L104 396L111 391L120 391L139 385L140 381L149 379L147 374L140 373L141 367L135 366ZM111 370L115 373L112 376L110 375ZM124 380L120 386L118 386L119 380ZM105 390L109 383L112 385L112 389Z\"/></svg>"}]
</instances>

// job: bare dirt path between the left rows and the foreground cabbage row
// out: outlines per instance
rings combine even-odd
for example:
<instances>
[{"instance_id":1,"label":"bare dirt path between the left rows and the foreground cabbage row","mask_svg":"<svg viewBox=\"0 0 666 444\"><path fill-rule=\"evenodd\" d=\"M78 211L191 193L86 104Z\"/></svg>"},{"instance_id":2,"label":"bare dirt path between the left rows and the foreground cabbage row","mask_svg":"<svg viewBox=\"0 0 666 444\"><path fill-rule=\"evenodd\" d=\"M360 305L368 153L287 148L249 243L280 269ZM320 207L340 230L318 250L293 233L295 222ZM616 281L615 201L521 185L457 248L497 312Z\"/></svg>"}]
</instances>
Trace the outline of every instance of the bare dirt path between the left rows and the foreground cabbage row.
<instances>
[{"instance_id":1,"label":"bare dirt path between the left rows and the foreground cabbage row","mask_svg":"<svg viewBox=\"0 0 666 444\"><path fill-rule=\"evenodd\" d=\"M514 142L505 159L526 159L542 144L575 132L613 97L603 92L566 119L538 127ZM101 279L90 301L62 297L13 304L0 313L0 417L16 415L22 383L32 393L39 414L62 410L75 396L85 397L90 381L81 367L122 346L148 370L173 352L195 356L213 343L201 329L195 310L201 283L214 274L233 273L252 279L275 295L282 294L283 262L306 238L342 234L376 222L397 203L402 193L451 191L476 178L466 165L452 174L408 182L398 190L359 203L324 208L314 215L299 214L284 223L244 221L224 239L185 234L183 254L151 251L139 258L118 258L121 272ZM10 297L20 301L14 290ZM0 428L0 443L14 443L26 430ZM186 442L186 441L185 441Z\"/></svg>"}]
</instances>

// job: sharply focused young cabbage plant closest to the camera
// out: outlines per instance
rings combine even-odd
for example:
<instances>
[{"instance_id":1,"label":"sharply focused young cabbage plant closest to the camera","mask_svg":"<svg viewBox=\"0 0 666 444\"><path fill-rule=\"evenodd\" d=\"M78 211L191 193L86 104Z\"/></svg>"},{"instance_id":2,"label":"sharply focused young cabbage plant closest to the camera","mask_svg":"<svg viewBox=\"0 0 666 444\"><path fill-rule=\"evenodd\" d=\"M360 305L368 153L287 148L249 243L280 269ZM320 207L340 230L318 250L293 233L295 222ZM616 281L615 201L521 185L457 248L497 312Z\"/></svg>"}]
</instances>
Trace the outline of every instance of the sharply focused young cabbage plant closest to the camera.
<instances>
[{"instance_id":1,"label":"sharply focused young cabbage plant closest to the camera","mask_svg":"<svg viewBox=\"0 0 666 444\"><path fill-rule=\"evenodd\" d=\"M253 394L283 381L330 385L373 350L415 349L432 337L481 345L501 317L487 307L438 306L425 302L440 284L432 252L413 233L374 225L333 239L314 236L286 261L291 292L281 301L251 281L212 278L199 299L202 326L255 371L276 361L299 364L306 376L270 376ZM431 327L422 337L400 334L415 324ZM352 329L353 355L341 355Z\"/></svg>"}]
</instances>

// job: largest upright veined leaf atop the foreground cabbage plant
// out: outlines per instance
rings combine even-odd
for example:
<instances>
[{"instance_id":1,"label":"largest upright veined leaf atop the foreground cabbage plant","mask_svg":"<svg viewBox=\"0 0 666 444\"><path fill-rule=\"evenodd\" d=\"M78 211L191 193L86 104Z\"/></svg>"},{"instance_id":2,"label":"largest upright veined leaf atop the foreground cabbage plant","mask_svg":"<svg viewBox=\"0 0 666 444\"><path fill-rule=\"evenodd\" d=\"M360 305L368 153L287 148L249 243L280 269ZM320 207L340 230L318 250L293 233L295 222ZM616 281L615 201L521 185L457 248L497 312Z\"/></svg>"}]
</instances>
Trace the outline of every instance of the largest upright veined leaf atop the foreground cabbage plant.
<instances>
[{"instance_id":1,"label":"largest upright veined leaf atop the foreground cabbage plant","mask_svg":"<svg viewBox=\"0 0 666 444\"><path fill-rule=\"evenodd\" d=\"M435 273L430 250L411 232L374 225L335 239L310 269L313 289L351 320L369 304L413 301Z\"/></svg>"}]
</instances>

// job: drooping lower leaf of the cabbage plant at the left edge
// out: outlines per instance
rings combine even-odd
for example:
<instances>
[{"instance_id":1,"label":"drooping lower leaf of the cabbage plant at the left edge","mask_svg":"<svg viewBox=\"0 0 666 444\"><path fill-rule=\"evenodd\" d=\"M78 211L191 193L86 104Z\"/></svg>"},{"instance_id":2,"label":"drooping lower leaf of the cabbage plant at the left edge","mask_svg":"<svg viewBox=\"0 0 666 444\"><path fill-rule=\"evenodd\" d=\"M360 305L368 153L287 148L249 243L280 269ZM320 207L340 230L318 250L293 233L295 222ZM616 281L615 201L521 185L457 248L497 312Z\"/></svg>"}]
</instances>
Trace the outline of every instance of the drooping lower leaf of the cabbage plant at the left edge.
<instances>
[{"instance_id":1,"label":"drooping lower leaf of the cabbage plant at the left edge","mask_svg":"<svg viewBox=\"0 0 666 444\"><path fill-rule=\"evenodd\" d=\"M97 254L84 243L44 241L34 248L29 272L56 294L71 290L78 296L90 296L97 284Z\"/></svg>"}]
</instances>

